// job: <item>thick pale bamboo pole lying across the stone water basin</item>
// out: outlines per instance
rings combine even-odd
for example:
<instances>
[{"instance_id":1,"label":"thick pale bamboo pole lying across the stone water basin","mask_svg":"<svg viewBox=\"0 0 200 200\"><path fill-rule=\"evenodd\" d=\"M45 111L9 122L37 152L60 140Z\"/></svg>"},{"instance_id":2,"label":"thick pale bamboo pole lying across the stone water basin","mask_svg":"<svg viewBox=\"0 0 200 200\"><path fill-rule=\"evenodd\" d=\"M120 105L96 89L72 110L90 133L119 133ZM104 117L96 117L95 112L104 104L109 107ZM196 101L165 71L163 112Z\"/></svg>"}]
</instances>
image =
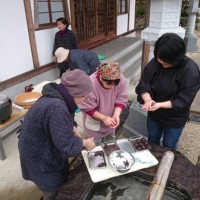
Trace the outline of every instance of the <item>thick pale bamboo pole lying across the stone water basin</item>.
<instances>
[{"instance_id":1,"label":"thick pale bamboo pole lying across the stone water basin","mask_svg":"<svg viewBox=\"0 0 200 200\"><path fill-rule=\"evenodd\" d=\"M161 200L173 161L174 153L166 151L160 161L150 190L147 194L147 200Z\"/></svg>"}]
</instances>

